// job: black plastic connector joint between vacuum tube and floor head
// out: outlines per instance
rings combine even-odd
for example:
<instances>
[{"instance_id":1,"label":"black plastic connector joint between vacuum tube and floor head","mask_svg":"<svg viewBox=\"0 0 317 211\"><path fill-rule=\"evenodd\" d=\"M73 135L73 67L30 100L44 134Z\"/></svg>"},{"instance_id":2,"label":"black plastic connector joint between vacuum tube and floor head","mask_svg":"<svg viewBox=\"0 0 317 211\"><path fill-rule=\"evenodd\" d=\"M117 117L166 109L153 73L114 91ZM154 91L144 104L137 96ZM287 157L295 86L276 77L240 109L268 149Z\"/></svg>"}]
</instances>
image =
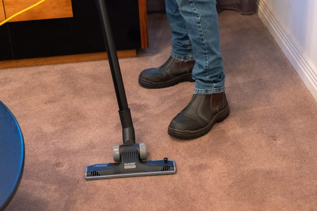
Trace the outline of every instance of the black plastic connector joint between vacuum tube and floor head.
<instances>
[{"instance_id":1,"label":"black plastic connector joint between vacuum tube and floor head","mask_svg":"<svg viewBox=\"0 0 317 211\"><path fill-rule=\"evenodd\" d=\"M123 144L135 144L134 127L130 109L118 112L122 125Z\"/></svg>"}]
</instances>

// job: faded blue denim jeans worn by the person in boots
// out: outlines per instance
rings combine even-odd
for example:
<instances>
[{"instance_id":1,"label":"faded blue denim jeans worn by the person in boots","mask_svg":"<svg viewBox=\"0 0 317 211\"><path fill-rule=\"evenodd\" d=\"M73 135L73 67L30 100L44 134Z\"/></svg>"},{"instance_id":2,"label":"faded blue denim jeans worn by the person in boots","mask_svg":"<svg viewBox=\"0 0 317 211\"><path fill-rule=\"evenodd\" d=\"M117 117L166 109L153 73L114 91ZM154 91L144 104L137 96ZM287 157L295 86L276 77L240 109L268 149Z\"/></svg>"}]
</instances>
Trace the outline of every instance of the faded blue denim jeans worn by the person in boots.
<instances>
[{"instance_id":1,"label":"faded blue denim jeans worn by the person in boots","mask_svg":"<svg viewBox=\"0 0 317 211\"><path fill-rule=\"evenodd\" d=\"M224 91L223 62L216 0L165 0L172 30L171 56L195 60L192 77L195 94Z\"/></svg>"}]
</instances>

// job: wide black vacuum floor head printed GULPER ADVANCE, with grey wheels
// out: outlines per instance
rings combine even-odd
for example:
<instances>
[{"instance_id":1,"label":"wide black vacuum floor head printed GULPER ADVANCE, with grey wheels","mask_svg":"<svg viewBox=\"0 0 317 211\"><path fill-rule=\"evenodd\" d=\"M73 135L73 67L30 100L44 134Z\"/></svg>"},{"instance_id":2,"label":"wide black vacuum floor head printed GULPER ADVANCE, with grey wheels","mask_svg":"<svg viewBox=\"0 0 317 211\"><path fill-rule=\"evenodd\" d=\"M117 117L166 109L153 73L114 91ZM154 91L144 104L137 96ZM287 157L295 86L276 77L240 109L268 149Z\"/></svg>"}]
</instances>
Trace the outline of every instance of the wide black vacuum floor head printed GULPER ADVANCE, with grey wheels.
<instances>
[{"instance_id":1,"label":"wide black vacuum floor head printed GULPER ADVANCE, with grey wheels","mask_svg":"<svg viewBox=\"0 0 317 211\"><path fill-rule=\"evenodd\" d=\"M86 166L86 180L176 173L174 160L141 161L146 157L145 144L115 145L113 159L120 162Z\"/></svg>"}]
</instances>

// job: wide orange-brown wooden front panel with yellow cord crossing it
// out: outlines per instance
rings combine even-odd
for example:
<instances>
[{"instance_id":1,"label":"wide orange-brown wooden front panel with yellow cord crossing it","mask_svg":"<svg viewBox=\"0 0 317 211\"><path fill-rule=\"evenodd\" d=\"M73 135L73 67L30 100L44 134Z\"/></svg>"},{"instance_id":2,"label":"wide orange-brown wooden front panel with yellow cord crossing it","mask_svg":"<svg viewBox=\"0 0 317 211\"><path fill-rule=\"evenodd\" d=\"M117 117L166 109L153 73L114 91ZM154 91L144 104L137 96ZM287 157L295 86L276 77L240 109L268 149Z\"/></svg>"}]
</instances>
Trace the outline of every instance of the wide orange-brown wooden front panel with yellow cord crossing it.
<instances>
[{"instance_id":1,"label":"wide orange-brown wooden front panel with yellow cord crossing it","mask_svg":"<svg viewBox=\"0 0 317 211\"><path fill-rule=\"evenodd\" d=\"M7 17L10 17L37 2L39 0L3 0L5 14ZM46 0L40 5L16 16L10 22L66 17L73 17L71 0Z\"/></svg>"}]
</instances>

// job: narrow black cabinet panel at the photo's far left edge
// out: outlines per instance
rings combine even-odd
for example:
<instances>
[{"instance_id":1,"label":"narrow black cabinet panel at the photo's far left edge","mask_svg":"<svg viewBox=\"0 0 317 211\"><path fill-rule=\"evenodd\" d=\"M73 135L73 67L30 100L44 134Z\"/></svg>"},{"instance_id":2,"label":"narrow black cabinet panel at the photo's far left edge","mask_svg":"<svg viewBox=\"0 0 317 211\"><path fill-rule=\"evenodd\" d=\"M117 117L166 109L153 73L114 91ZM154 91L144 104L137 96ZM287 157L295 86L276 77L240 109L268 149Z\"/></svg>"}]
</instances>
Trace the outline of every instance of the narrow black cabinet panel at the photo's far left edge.
<instances>
[{"instance_id":1,"label":"narrow black cabinet panel at the photo's far left edge","mask_svg":"<svg viewBox=\"0 0 317 211\"><path fill-rule=\"evenodd\" d=\"M13 59L13 57L10 45L8 25L4 24L0 26L0 60L9 59Z\"/></svg>"}]
</instances>

